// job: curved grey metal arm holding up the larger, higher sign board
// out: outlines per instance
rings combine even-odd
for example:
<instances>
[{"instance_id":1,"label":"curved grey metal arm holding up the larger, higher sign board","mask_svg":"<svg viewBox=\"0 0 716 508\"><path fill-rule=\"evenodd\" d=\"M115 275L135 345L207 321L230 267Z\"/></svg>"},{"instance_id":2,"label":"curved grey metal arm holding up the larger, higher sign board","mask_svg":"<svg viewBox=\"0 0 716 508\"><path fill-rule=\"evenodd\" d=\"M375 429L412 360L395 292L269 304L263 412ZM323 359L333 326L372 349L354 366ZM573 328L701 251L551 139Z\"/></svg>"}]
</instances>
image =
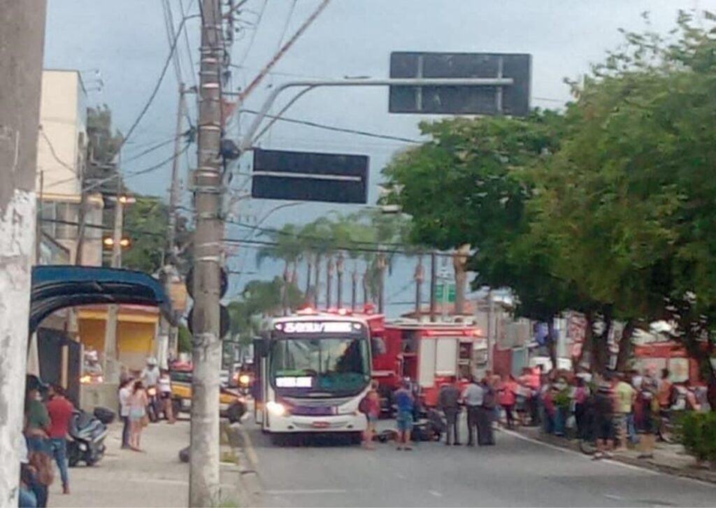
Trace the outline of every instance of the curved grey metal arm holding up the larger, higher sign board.
<instances>
[{"instance_id":1,"label":"curved grey metal arm holding up the larger, higher sign board","mask_svg":"<svg viewBox=\"0 0 716 508\"><path fill-rule=\"evenodd\" d=\"M269 109L281 92L289 88L306 87L508 87L514 84L512 78L388 78L388 79L301 79L279 84L275 87L246 131L239 149L251 150L256 142L256 132L266 118ZM300 97L300 94L299 94ZM296 97L297 98L297 97ZM284 108L287 109L287 108Z\"/></svg>"}]
</instances>

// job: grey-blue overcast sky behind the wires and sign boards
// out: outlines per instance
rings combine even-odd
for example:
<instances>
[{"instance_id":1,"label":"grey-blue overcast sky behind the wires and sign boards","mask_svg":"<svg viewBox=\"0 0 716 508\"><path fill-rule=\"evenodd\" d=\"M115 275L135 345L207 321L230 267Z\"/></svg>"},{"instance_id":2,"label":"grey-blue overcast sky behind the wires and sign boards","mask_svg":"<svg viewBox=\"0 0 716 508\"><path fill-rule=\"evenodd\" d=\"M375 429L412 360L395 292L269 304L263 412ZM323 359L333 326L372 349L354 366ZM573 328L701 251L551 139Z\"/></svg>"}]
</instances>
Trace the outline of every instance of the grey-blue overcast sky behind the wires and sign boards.
<instances>
[{"instance_id":1,"label":"grey-blue overcast sky behind the wires and sign boards","mask_svg":"<svg viewBox=\"0 0 716 508\"><path fill-rule=\"evenodd\" d=\"M188 14L198 13L198 0L170 0L170 4L176 25L182 5ZM238 89L251 81L276 52L282 35L286 33L286 40L318 4L319 0L250 0L241 16L246 22L241 26L246 28L237 34L231 50L233 64L242 67L233 69L233 87ZM276 74L248 98L246 107L258 109L271 84L285 80L387 77L393 51L532 54L533 106L560 107L569 99L563 78L579 77L588 71L589 64L600 62L604 52L621 41L617 29L644 29L641 14L649 11L651 28L665 33L674 26L678 9L716 10L716 0L333 0L275 67ZM182 38L178 48L183 80L191 86L197 70L192 69L191 62L198 65L198 19L190 19L186 26L188 41ZM168 52L160 0L49 0L45 67L82 71L89 104L107 103L120 130L127 130L149 97ZM104 83L101 89L97 89L95 69ZM176 90L177 78L170 68L158 97L127 145L125 159L173 137ZM279 103L274 111L280 107ZM388 114L386 89L359 88L315 90L286 116L411 138L418 137L417 122L425 119ZM248 114L241 117L244 128L251 119ZM238 132L238 122L234 122L230 133ZM369 155L374 202L380 170L392 153L406 145L279 122L261 140L261 146ZM124 170L141 170L170 155L167 147L132 162ZM183 162L187 164L187 160ZM248 162L242 162L242 170ZM166 165L128 183L138 192L165 196L169 175L170 165ZM245 180L237 177L234 186ZM237 213L245 221L260 220L278 204L242 200ZM263 224L307 222L336 208L286 207ZM246 234L251 231L236 227L227 233L233 238ZM232 265L234 269L255 269L253 253L239 255ZM397 270L392 279L396 291L412 273L412 266L404 268ZM276 273L277 269L276 265L266 265L263 275ZM234 292L240 290L240 282L236 278L232 281ZM408 300L411 293L406 288L402 294L397 292L394 300Z\"/></svg>"}]
</instances>

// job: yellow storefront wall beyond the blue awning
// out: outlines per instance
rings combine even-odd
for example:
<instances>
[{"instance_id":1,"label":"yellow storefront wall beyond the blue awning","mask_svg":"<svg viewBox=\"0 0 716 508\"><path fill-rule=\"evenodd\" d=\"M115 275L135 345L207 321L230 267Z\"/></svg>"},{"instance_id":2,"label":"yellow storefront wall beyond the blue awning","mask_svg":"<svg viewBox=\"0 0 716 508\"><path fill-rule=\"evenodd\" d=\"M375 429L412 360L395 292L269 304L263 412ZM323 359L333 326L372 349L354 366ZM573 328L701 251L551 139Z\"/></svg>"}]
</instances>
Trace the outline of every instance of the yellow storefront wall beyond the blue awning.
<instances>
[{"instance_id":1,"label":"yellow storefront wall beyond the blue awning","mask_svg":"<svg viewBox=\"0 0 716 508\"><path fill-rule=\"evenodd\" d=\"M85 350L91 348L104 356L107 306L79 310L79 340ZM157 308L120 306L117 316L117 358L130 370L141 370L148 356L156 354L159 323Z\"/></svg>"}]
</instances>

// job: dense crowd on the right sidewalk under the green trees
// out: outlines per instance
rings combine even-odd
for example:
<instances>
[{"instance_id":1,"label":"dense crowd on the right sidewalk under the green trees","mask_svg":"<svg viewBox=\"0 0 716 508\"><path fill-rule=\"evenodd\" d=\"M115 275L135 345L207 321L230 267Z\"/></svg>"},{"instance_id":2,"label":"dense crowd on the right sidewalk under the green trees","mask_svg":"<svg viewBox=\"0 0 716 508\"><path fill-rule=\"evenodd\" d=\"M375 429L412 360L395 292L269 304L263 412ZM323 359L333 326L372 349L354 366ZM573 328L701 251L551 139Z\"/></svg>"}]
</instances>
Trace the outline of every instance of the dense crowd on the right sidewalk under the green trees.
<instances>
[{"instance_id":1,"label":"dense crowd on the right sidewalk under the green trees","mask_svg":"<svg viewBox=\"0 0 716 508\"><path fill-rule=\"evenodd\" d=\"M556 436L571 434L596 443L595 459L613 449L637 446L639 456L649 458L657 438L668 439L674 411L699 411L708 404L705 392L674 383L663 369L641 373L589 373L557 371L548 376L541 369L526 369L518 379L497 381L505 401L506 426L517 411L522 424L541 425Z\"/></svg>"}]
</instances>

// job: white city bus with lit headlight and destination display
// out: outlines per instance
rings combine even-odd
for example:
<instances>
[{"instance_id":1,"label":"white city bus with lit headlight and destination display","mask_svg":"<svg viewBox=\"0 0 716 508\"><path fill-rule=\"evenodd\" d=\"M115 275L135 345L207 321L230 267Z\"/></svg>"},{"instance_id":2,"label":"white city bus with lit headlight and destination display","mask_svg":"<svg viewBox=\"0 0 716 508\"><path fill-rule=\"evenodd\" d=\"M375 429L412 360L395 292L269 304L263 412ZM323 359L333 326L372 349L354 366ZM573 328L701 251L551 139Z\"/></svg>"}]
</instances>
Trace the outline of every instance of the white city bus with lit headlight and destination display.
<instances>
[{"instance_id":1,"label":"white city bus with lit headlight and destination display","mask_svg":"<svg viewBox=\"0 0 716 508\"><path fill-rule=\"evenodd\" d=\"M360 441L366 419L358 406L371 382L364 320L322 313L274 318L254 344L256 422L273 441L316 432Z\"/></svg>"}]
</instances>

